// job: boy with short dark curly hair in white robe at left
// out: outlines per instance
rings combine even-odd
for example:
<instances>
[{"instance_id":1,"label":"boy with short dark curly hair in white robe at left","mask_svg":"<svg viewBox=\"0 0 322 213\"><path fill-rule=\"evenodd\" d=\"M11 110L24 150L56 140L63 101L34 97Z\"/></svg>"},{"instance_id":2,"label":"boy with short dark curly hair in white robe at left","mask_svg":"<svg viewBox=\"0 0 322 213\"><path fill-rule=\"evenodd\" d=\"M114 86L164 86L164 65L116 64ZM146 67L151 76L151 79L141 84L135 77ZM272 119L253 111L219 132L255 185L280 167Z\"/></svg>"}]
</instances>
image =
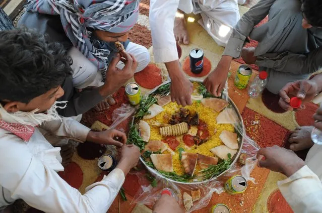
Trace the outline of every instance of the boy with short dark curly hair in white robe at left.
<instances>
[{"instance_id":1,"label":"boy with short dark curly hair in white robe at left","mask_svg":"<svg viewBox=\"0 0 322 213\"><path fill-rule=\"evenodd\" d=\"M140 157L139 148L113 140L117 130L93 132L61 118L56 100L71 75L70 58L59 44L25 29L0 32L0 211L16 199L45 212L106 212L124 177ZM61 103L61 102L60 102ZM57 136L121 148L116 168L82 195L61 179L60 148L38 126Z\"/></svg>"}]
</instances>

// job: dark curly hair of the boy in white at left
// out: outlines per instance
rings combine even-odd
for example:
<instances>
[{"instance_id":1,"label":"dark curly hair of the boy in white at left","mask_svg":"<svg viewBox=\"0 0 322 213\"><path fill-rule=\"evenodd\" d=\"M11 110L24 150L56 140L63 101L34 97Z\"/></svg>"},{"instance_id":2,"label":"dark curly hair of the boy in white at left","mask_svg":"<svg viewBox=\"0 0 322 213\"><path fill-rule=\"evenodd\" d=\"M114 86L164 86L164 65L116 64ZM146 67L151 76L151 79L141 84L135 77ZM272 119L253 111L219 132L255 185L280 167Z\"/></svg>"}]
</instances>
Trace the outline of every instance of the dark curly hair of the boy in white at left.
<instances>
[{"instance_id":1,"label":"dark curly hair of the boy in white at left","mask_svg":"<svg viewBox=\"0 0 322 213\"><path fill-rule=\"evenodd\" d=\"M0 100L28 103L72 74L72 59L58 43L28 29L0 32Z\"/></svg>"}]
</instances>

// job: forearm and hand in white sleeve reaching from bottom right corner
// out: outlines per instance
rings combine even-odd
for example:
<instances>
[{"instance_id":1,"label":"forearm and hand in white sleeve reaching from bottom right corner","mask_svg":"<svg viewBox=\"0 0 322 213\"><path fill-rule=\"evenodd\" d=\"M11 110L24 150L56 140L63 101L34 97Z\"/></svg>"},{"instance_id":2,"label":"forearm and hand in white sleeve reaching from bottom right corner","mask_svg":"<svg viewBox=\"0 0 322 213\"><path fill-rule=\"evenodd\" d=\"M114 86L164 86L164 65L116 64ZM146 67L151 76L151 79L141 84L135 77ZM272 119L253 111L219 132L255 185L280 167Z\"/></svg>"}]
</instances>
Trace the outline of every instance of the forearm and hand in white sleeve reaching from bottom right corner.
<instances>
[{"instance_id":1,"label":"forearm and hand in white sleeve reaching from bottom right corner","mask_svg":"<svg viewBox=\"0 0 322 213\"><path fill-rule=\"evenodd\" d=\"M322 183L293 151L275 145L261 149L257 157L260 167L287 176L277 185L295 213L322 212Z\"/></svg>"}]
</instances>

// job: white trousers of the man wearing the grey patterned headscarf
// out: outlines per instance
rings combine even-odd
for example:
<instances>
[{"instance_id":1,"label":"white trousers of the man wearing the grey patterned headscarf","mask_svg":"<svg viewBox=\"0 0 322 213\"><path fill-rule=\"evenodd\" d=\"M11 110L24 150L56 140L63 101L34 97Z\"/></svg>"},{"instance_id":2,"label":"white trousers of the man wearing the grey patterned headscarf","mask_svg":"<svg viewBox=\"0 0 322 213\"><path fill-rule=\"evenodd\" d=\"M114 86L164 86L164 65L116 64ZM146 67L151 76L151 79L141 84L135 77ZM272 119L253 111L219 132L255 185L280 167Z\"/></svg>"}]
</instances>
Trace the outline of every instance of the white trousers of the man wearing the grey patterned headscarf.
<instances>
[{"instance_id":1,"label":"white trousers of the man wearing the grey patterned headscarf","mask_svg":"<svg viewBox=\"0 0 322 213\"><path fill-rule=\"evenodd\" d=\"M130 42L128 43L126 52L131 53L138 61L138 68L136 72L140 72L150 63L150 53L147 48L142 45ZM69 50L69 55L73 59L72 69L74 87L82 89L88 86L101 86L102 75L97 71L97 67L88 60L78 49L72 47ZM122 69L123 62L119 62L117 67Z\"/></svg>"}]
</instances>

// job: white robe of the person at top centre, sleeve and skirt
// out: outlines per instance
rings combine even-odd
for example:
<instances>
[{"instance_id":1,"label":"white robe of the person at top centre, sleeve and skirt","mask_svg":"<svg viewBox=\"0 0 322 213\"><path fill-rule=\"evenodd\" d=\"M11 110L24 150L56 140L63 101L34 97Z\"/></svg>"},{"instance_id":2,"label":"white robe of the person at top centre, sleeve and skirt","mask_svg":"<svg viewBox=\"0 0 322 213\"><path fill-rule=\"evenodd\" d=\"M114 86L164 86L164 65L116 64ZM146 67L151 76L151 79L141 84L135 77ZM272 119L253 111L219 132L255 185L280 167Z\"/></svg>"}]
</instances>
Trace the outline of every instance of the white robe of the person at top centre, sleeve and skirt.
<instances>
[{"instance_id":1,"label":"white robe of the person at top centre, sleeve and skirt","mask_svg":"<svg viewBox=\"0 0 322 213\"><path fill-rule=\"evenodd\" d=\"M185 13L201 13L199 23L221 46L225 46L233 27L240 19L237 0L151 0L150 26L155 62L166 63L178 59L173 34L177 9ZM192 9L192 10L191 10Z\"/></svg>"}]
</instances>

